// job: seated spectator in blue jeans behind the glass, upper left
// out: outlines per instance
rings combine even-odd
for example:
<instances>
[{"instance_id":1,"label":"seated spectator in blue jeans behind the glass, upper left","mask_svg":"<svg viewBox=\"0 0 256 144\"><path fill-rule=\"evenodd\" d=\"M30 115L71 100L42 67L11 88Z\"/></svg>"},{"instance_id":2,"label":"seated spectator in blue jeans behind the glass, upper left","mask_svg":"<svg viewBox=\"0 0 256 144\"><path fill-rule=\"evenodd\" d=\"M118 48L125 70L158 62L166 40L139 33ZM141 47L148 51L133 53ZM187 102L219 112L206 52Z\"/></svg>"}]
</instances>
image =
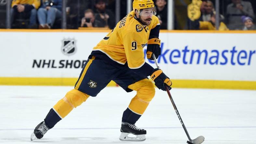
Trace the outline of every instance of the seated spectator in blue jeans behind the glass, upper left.
<instances>
[{"instance_id":1,"label":"seated spectator in blue jeans behind the glass, upper left","mask_svg":"<svg viewBox=\"0 0 256 144\"><path fill-rule=\"evenodd\" d=\"M61 18L62 0L41 0L37 12L39 29L51 29L56 19Z\"/></svg>"}]
</instances>

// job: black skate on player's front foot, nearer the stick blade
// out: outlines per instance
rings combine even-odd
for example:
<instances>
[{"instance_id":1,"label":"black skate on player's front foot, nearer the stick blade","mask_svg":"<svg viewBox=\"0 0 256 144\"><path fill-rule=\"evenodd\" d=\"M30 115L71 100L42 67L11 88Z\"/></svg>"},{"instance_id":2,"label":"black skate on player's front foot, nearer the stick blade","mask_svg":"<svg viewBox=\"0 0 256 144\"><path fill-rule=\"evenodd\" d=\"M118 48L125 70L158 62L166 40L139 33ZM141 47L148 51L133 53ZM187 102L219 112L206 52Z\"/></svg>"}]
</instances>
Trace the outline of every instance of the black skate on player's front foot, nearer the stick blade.
<instances>
[{"instance_id":1,"label":"black skate on player's front foot, nearer the stick blade","mask_svg":"<svg viewBox=\"0 0 256 144\"><path fill-rule=\"evenodd\" d=\"M128 137L129 134L133 134L136 138ZM122 122L120 140L123 141L144 141L146 140L147 131L140 129L133 124Z\"/></svg>"}]
</instances>

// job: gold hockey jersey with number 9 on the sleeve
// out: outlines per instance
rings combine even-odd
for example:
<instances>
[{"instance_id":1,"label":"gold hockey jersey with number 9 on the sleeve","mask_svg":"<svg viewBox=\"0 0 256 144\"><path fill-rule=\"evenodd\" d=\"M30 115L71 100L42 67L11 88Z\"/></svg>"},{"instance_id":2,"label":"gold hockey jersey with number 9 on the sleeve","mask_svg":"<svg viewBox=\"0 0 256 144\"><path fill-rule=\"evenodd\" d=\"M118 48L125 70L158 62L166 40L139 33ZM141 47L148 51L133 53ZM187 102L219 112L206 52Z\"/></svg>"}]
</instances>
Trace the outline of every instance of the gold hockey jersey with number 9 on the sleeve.
<instances>
[{"instance_id":1,"label":"gold hockey jersey with number 9 on the sleeve","mask_svg":"<svg viewBox=\"0 0 256 144\"><path fill-rule=\"evenodd\" d=\"M160 25L156 16L151 19L151 24L143 27L131 11L93 51L101 51L119 64L127 62L131 69L140 68L145 63L143 47L147 44L150 30Z\"/></svg>"}]
</instances>

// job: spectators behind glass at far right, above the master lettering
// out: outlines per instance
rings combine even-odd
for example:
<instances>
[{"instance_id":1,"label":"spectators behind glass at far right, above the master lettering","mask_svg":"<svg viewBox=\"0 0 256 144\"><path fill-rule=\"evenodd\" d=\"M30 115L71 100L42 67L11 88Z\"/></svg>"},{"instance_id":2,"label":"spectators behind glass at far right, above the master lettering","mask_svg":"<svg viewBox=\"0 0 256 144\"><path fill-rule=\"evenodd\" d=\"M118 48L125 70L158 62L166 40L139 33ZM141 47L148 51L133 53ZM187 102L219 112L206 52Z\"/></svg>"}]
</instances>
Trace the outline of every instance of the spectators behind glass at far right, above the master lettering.
<instances>
[{"instance_id":1,"label":"spectators behind glass at far right, above the master lettering","mask_svg":"<svg viewBox=\"0 0 256 144\"><path fill-rule=\"evenodd\" d=\"M192 30L215 30L216 12L211 0L202 0L201 16L197 20L188 20ZM227 5L226 15L220 15L219 30L256 30L253 7L249 1L232 0Z\"/></svg>"}]
</instances>

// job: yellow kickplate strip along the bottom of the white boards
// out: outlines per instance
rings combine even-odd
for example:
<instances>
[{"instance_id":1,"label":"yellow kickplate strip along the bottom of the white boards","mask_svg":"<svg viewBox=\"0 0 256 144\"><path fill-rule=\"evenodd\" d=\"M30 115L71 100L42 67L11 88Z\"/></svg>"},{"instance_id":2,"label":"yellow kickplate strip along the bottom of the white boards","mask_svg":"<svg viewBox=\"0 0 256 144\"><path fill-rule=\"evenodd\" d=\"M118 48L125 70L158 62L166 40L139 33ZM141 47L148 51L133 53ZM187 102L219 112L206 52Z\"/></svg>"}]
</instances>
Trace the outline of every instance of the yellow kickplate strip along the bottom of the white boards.
<instances>
[{"instance_id":1,"label":"yellow kickplate strip along the bottom of the white boards","mask_svg":"<svg viewBox=\"0 0 256 144\"><path fill-rule=\"evenodd\" d=\"M0 85L74 86L77 78L10 78L0 77ZM172 88L256 90L256 81L172 79ZM117 86L110 81L108 86Z\"/></svg>"}]
</instances>

